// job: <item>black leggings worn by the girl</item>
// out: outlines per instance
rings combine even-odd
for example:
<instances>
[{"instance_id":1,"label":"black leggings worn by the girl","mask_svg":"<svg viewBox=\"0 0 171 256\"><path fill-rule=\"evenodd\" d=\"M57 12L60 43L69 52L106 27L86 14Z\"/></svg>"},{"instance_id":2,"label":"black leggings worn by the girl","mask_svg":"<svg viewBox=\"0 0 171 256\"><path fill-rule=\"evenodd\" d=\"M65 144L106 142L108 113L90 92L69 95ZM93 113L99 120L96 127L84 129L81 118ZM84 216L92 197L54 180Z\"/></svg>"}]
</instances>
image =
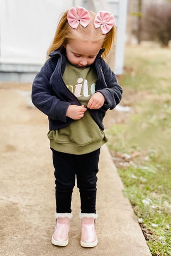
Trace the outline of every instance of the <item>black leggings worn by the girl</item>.
<instances>
[{"instance_id":1,"label":"black leggings worn by the girl","mask_svg":"<svg viewBox=\"0 0 171 256\"><path fill-rule=\"evenodd\" d=\"M77 187L80 190L81 213L96 213L96 174L100 148L84 155L62 153L54 149L52 151L56 179L56 212L71 213L76 175Z\"/></svg>"}]
</instances>

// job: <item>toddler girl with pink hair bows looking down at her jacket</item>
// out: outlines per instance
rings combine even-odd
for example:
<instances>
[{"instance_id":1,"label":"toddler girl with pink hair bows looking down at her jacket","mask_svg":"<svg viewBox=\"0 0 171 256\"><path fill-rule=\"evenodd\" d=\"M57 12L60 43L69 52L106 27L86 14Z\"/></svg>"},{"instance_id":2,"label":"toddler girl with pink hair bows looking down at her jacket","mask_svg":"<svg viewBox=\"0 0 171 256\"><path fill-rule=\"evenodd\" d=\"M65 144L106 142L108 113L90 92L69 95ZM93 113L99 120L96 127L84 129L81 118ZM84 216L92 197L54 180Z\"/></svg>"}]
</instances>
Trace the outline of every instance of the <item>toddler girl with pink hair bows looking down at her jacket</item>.
<instances>
[{"instance_id":1,"label":"toddler girl with pink hair bows looking down at her jacket","mask_svg":"<svg viewBox=\"0 0 171 256\"><path fill-rule=\"evenodd\" d=\"M113 14L72 7L59 21L49 58L33 81L32 102L49 119L56 184L54 245L69 243L75 176L81 246L98 243L96 183L100 147L107 141L102 119L122 97L116 76L101 55L108 54L115 36Z\"/></svg>"}]
</instances>

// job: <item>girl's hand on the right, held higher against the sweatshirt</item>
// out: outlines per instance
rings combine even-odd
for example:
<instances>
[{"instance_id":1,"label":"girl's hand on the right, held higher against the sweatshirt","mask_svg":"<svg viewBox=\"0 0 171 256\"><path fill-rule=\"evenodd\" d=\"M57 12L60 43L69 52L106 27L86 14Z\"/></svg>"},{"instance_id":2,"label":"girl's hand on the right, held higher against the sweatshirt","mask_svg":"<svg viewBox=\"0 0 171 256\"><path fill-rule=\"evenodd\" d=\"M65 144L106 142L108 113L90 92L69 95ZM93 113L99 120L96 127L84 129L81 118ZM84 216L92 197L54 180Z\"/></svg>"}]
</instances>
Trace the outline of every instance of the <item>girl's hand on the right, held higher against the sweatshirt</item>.
<instances>
[{"instance_id":1,"label":"girl's hand on the right, held higher against the sweatshirt","mask_svg":"<svg viewBox=\"0 0 171 256\"><path fill-rule=\"evenodd\" d=\"M87 107L90 109L99 109L104 105L105 97L101 92L96 92L92 94Z\"/></svg>"}]
</instances>

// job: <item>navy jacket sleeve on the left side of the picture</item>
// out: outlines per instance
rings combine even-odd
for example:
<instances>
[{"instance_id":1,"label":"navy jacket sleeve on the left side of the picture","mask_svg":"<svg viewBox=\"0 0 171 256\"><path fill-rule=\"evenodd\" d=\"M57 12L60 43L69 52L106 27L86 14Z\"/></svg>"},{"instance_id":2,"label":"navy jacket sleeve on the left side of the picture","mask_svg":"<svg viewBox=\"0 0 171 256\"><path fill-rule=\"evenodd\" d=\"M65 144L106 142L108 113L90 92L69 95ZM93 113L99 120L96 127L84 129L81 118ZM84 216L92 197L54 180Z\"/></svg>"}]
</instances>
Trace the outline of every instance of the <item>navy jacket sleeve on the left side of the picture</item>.
<instances>
[{"instance_id":1,"label":"navy jacket sleeve on the left side of the picture","mask_svg":"<svg viewBox=\"0 0 171 256\"><path fill-rule=\"evenodd\" d=\"M48 59L36 75L32 84L31 99L33 104L50 118L66 122L66 111L71 103L58 99L50 89L50 77L56 66L56 60L52 59L55 58Z\"/></svg>"}]
</instances>

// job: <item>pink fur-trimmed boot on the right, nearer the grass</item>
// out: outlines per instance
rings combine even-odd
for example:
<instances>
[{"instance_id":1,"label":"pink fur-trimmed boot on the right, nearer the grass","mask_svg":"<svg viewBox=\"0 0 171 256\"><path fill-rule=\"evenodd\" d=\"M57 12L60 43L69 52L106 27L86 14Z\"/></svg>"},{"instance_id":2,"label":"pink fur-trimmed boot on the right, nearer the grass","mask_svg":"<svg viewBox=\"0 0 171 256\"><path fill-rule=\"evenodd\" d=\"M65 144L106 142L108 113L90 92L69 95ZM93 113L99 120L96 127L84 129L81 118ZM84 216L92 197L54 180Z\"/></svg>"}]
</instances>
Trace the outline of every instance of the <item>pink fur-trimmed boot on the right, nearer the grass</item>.
<instances>
[{"instance_id":1,"label":"pink fur-trimmed boot on the right, nearer the grass","mask_svg":"<svg viewBox=\"0 0 171 256\"><path fill-rule=\"evenodd\" d=\"M95 247L98 239L95 230L96 213L80 213L81 218L81 241L82 247Z\"/></svg>"}]
</instances>

